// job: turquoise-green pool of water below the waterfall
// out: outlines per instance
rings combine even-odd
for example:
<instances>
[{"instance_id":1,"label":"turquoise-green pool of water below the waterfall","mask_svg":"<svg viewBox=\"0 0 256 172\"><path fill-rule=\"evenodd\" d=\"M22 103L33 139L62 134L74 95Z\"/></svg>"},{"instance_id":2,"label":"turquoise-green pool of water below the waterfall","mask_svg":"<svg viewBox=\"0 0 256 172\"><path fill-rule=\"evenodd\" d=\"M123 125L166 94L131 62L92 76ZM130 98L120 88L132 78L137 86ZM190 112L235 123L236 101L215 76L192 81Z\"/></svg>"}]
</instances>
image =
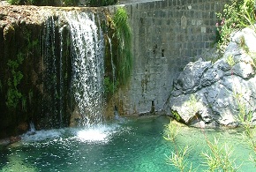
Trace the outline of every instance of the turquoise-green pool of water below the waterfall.
<instances>
[{"instance_id":1,"label":"turquoise-green pool of water below the waterfall","mask_svg":"<svg viewBox=\"0 0 256 172\"><path fill-rule=\"evenodd\" d=\"M36 131L23 135L22 141L0 148L0 171L178 171L167 164L166 156L174 146L162 138L166 116L124 119L89 129ZM182 127L177 145L189 145L188 161L197 171L200 152L207 150L203 132L208 139L220 138L234 148L238 171L255 171L247 161L249 148L243 144L239 131L215 131Z\"/></svg>"}]
</instances>

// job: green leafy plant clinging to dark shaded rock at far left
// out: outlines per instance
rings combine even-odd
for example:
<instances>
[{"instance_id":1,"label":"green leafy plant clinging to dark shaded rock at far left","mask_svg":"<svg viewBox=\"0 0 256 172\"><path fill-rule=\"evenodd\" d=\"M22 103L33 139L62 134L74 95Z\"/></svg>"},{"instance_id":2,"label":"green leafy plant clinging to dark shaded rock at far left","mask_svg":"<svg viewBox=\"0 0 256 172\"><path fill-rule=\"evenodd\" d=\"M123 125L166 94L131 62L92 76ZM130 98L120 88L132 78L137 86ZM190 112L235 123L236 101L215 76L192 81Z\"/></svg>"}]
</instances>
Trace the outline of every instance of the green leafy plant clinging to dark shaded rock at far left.
<instances>
[{"instance_id":1,"label":"green leafy plant clinging to dark shaded rock at far left","mask_svg":"<svg viewBox=\"0 0 256 172\"><path fill-rule=\"evenodd\" d=\"M23 63L23 60L23 54L19 53L16 60L8 60L7 63L11 71L11 76L7 80L6 105L8 108L17 108L19 101L22 99L22 93L20 93L18 86L23 78L23 74L19 71L19 66Z\"/></svg>"}]
</instances>

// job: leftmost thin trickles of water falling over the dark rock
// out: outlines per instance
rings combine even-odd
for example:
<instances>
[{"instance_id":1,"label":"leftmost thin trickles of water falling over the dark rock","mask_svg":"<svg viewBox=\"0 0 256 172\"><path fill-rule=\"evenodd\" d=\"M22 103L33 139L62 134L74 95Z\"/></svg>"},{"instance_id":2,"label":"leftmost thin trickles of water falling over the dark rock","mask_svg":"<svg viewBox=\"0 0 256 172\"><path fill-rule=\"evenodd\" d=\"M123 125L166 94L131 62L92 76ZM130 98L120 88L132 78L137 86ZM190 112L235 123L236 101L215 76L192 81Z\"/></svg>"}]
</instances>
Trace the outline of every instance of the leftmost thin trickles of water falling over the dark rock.
<instances>
[{"instance_id":1,"label":"leftmost thin trickles of water falling over the dark rock","mask_svg":"<svg viewBox=\"0 0 256 172\"><path fill-rule=\"evenodd\" d=\"M59 127L59 106L57 93L57 66L56 66L56 23L52 16L49 16L45 23L42 35L42 56L43 68L45 69L43 80L43 100L41 116L48 120L47 126L58 125ZM46 122L45 122L46 123Z\"/></svg>"}]
</instances>

